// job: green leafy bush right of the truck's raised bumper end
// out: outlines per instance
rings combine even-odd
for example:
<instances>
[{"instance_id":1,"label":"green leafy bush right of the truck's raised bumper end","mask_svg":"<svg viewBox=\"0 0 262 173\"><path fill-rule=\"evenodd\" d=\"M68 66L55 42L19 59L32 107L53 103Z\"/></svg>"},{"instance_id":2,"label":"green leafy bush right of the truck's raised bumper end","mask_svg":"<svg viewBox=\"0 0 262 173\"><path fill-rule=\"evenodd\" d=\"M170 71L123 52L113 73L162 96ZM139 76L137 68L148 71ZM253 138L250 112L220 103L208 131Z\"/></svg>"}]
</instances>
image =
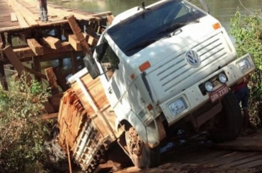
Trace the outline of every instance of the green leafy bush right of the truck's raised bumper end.
<instances>
[{"instance_id":1,"label":"green leafy bush right of the truck's raised bumper end","mask_svg":"<svg viewBox=\"0 0 262 173\"><path fill-rule=\"evenodd\" d=\"M237 11L230 23L229 34L234 37L238 56L250 52L256 62L256 71L253 73L250 89L250 115L254 126L261 126L262 119L262 15L261 11L254 11L241 16Z\"/></svg>"}]
</instances>

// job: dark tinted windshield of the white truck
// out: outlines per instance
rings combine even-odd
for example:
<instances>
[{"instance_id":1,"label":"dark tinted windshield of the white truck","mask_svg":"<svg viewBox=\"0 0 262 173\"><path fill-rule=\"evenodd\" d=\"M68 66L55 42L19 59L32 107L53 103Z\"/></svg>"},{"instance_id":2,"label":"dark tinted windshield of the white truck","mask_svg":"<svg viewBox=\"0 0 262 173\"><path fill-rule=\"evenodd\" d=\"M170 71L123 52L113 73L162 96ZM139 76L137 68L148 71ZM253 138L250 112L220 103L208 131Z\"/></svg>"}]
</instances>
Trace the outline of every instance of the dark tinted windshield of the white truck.
<instances>
[{"instance_id":1,"label":"dark tinted windshield of the white truck","mask_svg":"<svg viewBox=\"0 0 262 173\"><path fill-rule=\"evenodd\" d=\"M132 56L149 44L166 37L206 14L182 0L168 0L114 25L108 35L127 55ZM149 40L149 41L148 41Z\"/></svg>"}]
</instances>

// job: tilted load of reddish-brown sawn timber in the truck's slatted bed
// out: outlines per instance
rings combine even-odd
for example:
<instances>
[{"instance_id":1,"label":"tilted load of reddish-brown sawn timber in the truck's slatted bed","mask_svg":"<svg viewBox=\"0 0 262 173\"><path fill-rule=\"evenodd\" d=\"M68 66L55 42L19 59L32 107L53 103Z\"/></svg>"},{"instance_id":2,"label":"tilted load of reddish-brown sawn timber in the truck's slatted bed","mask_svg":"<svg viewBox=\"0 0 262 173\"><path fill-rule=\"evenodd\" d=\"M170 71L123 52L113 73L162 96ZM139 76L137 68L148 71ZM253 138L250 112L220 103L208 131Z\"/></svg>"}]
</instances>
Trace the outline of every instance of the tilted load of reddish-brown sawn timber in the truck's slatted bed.
<instances>
[{"instance_id":1,"label":"tilted load of reddish-brown sawn timber in the truck's slatted bed","mask_svg":"<svg viewBox=\"0 0 262 173\"><path fill-rule=\"evenodd\" d=\"M93 80L84 68L69 82L72 86L64 93L58 114L59 145L82 169L93 172L103 151L123 131L114 130L116 116L99 78Z\"/></svg>"}]
</instances>

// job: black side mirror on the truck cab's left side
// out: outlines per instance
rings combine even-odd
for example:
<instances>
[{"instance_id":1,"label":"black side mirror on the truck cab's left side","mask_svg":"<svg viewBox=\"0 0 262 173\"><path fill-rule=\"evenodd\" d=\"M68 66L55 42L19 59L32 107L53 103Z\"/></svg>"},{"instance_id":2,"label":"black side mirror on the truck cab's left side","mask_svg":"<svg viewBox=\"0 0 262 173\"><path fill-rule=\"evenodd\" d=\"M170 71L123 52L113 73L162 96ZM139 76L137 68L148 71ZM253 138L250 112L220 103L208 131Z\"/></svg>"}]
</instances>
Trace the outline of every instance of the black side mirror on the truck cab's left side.
<instances>
[{"instance_id":1,"label":"black side mirror on the truck cab's left side","mask_svg":"<svg viewBox=\"0 0 262 173\"><path fill-rule=\"evenodd\" d=\"M87 52L86 56L84 56L84 65L89 71L90 76L95 79L100 75L98 66L96 64L95 59L93 59L93 54L91 52Z\"/></svg>"}]
</instances>

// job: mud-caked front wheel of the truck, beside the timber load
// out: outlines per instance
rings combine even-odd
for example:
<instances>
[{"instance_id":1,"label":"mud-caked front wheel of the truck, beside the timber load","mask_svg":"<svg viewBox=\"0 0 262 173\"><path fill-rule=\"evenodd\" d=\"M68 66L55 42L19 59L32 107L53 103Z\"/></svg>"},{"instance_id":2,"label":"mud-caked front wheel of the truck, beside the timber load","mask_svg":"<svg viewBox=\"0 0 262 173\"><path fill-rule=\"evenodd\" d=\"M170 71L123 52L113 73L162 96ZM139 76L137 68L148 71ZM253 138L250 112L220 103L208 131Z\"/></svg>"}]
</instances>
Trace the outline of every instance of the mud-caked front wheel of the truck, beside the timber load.
<instances>
[{"instance_id":1,"label":"mud-caked front wheel of the truck, beside the timber load","mask_svg":"<svg viewBox=\"0 0 262 173\"><path fill-rule=\"evenodd\" d=\"M135 167L150 168L156 167L160 162L160 149L149 148L142 141L137 131L133 127L125 132L125 141L127 143L127 150Z\"/></svg>"}]
</instances>

